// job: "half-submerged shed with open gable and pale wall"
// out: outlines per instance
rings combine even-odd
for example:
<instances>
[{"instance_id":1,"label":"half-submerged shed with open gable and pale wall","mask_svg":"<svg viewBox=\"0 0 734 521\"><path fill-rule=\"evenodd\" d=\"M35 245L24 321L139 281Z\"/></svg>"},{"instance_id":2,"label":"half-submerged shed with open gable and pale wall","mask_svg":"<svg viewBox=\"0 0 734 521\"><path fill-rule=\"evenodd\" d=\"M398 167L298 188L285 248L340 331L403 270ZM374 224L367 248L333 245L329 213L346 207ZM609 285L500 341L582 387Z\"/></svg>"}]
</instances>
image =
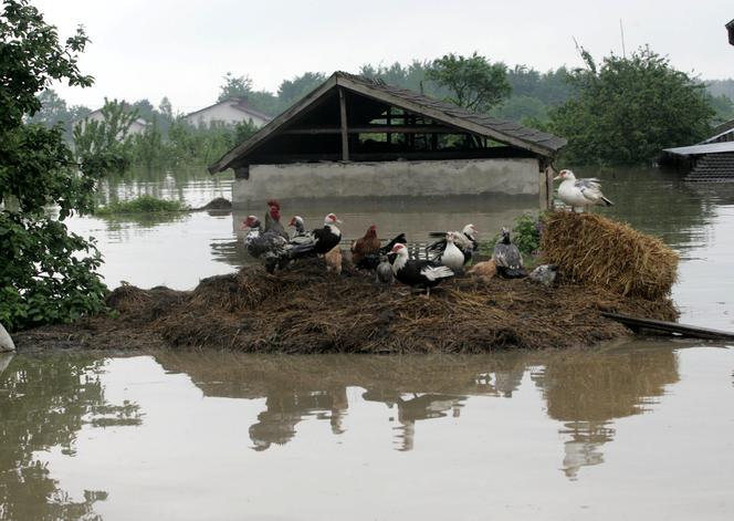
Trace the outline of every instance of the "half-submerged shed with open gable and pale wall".
<instances>
[{"instance_id":1,"label":"half-submerged shed with open gable and pale wall","mask_svg":"<svg viewBox=\"0 0 734 521\"><path fill-rule=\"evenodd\" d=\"M524 195L546 208L566 140L344 72L209 167L235 205L271 197Z\"/></svg>"}]
</instances>

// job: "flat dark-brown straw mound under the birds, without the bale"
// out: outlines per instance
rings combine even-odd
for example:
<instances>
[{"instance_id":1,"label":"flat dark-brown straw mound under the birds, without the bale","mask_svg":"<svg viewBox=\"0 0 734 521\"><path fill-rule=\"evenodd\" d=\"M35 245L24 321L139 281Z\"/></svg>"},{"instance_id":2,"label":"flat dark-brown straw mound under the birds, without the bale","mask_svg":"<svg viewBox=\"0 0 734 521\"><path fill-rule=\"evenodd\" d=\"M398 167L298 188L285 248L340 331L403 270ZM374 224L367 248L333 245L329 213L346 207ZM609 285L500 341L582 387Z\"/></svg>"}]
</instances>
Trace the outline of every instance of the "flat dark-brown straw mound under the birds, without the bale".
<instances>
[{"instance_id":1,"label":"flat dark-brown straw mound under the birds, without the bale","mask_svg":"<svg viewBox=\"0 0 734 521\"><path fill-rule=\"evenodd\" d=\"M151 320L172 347L251 353L481 353L588 346L628 334L600 311L672 320L669 300L605 289L547 289L527 280L458 279L430 299L301 263L269 275L247 268L203 280Z\"/></svg>"}]
</instances>

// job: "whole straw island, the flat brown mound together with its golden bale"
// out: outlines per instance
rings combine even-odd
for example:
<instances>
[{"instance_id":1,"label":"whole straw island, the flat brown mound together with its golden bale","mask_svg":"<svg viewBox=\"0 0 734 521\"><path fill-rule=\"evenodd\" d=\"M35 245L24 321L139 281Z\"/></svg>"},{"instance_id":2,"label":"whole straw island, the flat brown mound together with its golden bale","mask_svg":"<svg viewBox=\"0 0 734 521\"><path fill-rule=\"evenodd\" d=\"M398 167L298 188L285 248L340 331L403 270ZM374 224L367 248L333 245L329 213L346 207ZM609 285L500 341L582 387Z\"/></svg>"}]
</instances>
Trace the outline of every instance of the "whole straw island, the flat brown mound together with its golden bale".
<instances>
[{"instance_id":1,"label":"whole straw island, the flat brown mound together with its golden bale","mask_svg":"<svg viewBox=\"0 0 734 521\"><path fill-rule=\"evenodd\" d=\"M115 290L119 316L92 317L28 336L84 348L216 348L249 353L483 353L586 347L628 330L617 312L675 320L668 298L678 256L658 239L595 215L556 212L543 233L558 264L554 288L529 280L465 277L430 299L369 275L327 272L301 261L268 274L261 267L205 279L191 292ZM64 344L65 343L65 344Z\"/></svg>"}]
</instances>

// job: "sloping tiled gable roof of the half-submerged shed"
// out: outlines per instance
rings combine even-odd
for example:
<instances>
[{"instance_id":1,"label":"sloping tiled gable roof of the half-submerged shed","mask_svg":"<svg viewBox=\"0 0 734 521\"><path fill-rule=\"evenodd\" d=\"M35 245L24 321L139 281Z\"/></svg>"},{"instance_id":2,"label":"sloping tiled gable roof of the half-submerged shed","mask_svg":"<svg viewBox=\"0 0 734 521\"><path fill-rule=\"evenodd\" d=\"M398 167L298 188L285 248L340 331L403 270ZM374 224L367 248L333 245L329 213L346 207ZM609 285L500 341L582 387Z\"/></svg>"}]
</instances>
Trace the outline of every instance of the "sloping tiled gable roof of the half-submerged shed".
<instances>
[{"instance_id":1,"label":"sloping tiled gable roof of the half-submerged shed","mask_svg":"<svg viewBox=\"0 0 734 521\"><path fill-rule=\"evenodd\" d=\"M213 174L230 168L239 158L254 150L270 137L277 135L279 129L336 87L345 88L413 114L430 117L436 122L454 127L459 132L487 137L546 157L554 156L567 143L563 137L528 128L517 123L474 113L452 103L441 102L413 91L388 85L381 80L371 80L338 71L291 108L262 127L252 137L210 165L209 171Z\"/></svg>"}]
</instances>

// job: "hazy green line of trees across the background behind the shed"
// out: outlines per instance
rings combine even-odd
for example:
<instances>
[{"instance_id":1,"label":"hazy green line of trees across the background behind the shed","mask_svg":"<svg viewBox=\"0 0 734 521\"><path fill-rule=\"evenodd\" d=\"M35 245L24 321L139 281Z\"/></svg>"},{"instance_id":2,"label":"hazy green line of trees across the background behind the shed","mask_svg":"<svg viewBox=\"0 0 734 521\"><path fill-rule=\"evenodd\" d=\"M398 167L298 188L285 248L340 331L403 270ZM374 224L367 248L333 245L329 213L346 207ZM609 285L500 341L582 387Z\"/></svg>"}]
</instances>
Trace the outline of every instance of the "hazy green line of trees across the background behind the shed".
<instances>
[{"instance_id":1,"label":"hazy green line of trees across the background behind the shed","mask_svg":"<svg viewBox=\"0 0 734 521\"><path fill-rule=\"evenodd\" d=\"M547 72L525 65L507 67L474 53L470 56L447 54L422 62L413 60L405 65L397 62L365 64L357 73L499 118L558 133L569 138L565 155L575 163L651 161L660 148L695 143L705 137L713 125L734 118L734 80L702 82L674 71L667 60L647 48L629 59L607 56L599 71L588 53L583 51L581 54L584 67L562 66ZM652 75L647 74L644 67L660 72L660 81L651 80ZM618 81L616 75L626 80ZM228 72L222 77L217 101L243 98L252 108L275 116L326 77L322 72L305 72L284 80L272 93L254 90L248 75ZM644 83L648 81L653 83ZM677 82L684 85L685 92L695 94L672 98L669 90L674 90ZM606 87L600 87L607 83ZM607 97L597 100L598 105L594 105L590 102L594 96ZM67 107L52 90L41 93L39 100L41 111L28 121L48 126L61 122L69 137L73 122L91 113L84 106ZM675 103L689 104L678 107ZM597 112L590 117L581 107ZM128 166L206 165L256 132L249 124L192 127L184 122L182 114L175 113L168 97L157 107L148 100L138 100L127 111L148 123L144 134L130 136L120 146ZM651 126L650 117L658 115L661 121ZM640 137L642 128L649 132ZM636 143L622 144L622 138L630 136L636 136Z\"/></svg>"}]
</instances>

